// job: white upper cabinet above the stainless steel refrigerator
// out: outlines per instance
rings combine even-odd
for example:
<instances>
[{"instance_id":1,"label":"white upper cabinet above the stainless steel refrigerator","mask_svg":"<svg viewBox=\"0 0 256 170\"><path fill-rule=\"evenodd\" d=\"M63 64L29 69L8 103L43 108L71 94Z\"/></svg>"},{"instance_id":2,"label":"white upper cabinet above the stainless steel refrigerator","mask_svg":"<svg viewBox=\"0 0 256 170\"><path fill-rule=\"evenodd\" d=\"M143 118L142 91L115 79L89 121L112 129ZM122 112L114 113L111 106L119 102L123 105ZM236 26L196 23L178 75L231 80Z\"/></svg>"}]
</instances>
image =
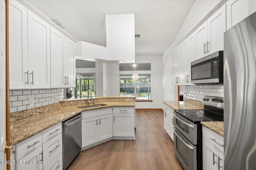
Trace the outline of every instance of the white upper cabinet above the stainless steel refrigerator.
<instances>
[{"instance_id":1,"label":"white upper cabinet above the stainless steel refrigerator","mask_svg":"<svg viewBox=\"0 0 256 170\"><path fill-rule=\"evenodd\" d=\"M256 11L255 0L229 0L226 5L227 30Z\"/></svg>"}]
</instances>

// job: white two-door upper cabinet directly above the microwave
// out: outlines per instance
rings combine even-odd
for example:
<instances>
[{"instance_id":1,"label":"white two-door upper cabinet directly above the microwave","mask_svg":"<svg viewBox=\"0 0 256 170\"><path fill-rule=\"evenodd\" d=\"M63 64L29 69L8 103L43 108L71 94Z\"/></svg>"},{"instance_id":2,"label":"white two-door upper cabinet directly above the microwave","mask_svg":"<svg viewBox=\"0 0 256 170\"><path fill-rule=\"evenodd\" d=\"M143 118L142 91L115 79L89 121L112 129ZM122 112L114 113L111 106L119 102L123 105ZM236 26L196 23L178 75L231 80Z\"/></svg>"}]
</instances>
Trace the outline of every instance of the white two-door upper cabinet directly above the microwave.
<instances>
[{"instance_id":1,"label":"white two-door upper cabinet directly above the microwave","mask_svg":"<svg viewBox=\"0 0 256 170\"><path fill-rule=\"evenodd\" d=\"M196 60L216 51L222 51L226 31L226 5L215 12L195 31Z\"/></svg>"}]
</instances>

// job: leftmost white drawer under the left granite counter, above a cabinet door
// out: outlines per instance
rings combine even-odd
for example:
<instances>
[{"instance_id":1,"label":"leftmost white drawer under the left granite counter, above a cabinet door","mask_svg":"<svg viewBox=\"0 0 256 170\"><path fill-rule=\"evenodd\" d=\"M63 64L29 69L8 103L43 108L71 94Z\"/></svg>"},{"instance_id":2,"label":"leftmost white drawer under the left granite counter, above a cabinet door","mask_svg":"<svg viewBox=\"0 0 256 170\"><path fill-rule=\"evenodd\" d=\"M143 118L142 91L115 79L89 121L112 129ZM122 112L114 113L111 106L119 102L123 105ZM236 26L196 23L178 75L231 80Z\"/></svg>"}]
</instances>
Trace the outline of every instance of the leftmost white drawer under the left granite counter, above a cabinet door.
<instances>
[{"instance_id":1,"label":"leftmost white drawer under the left granite counter, above a cabinet door","mask_svg":"<svg viewBox=\"0 0 256 170\"><path fill-rule=\"evenodd\" d=\"M16 145L16 160L26 156L42 145L42 132L18 143Z\"/></svg>"}]
</instances>

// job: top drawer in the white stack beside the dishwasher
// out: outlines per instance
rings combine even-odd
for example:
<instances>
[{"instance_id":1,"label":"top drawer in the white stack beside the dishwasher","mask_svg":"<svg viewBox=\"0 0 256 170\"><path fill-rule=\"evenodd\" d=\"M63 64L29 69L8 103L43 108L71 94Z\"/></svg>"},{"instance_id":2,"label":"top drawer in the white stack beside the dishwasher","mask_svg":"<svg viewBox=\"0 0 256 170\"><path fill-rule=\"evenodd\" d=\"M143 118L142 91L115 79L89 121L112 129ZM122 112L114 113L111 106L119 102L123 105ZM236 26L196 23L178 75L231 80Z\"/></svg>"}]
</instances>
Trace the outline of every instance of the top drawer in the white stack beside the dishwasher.
<instances>
[{"instance_id":1,"label":"top drawer in the white stack beside the dishwasher","mask_svg":"<svg viewBox=\"0 0 256 170\"><path fill-rule=\"evenodd\" d=\"M45 129L42 132L43 135L43 143L46 143L47 141L49 141L50 139L54 138L55 136L57 136L58 134L60 134L62 132L62 125L61 122L49 127L48 129Z\"/></svg>"}]
</instances>

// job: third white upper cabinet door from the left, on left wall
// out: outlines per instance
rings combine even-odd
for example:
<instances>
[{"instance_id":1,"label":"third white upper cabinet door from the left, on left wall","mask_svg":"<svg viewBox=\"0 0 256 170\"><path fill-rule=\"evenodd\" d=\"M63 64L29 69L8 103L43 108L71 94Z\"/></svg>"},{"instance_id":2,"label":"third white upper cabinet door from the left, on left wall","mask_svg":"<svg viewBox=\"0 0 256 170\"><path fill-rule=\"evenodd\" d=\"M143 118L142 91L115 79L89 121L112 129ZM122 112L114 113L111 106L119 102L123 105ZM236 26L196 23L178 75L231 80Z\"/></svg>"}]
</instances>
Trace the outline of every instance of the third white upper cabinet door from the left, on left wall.
<instances>
[{"instance_id":1,"label":"third white upper cabinet door from the left, on left wall","mask_svg":"<svg viewBox=\"0 0 256 170\"><path fill-rule=\"evenodd\" d=\"M51 88L64 87L65 36L54 27L51 31Z\"/></svg>"}]
</instances>

